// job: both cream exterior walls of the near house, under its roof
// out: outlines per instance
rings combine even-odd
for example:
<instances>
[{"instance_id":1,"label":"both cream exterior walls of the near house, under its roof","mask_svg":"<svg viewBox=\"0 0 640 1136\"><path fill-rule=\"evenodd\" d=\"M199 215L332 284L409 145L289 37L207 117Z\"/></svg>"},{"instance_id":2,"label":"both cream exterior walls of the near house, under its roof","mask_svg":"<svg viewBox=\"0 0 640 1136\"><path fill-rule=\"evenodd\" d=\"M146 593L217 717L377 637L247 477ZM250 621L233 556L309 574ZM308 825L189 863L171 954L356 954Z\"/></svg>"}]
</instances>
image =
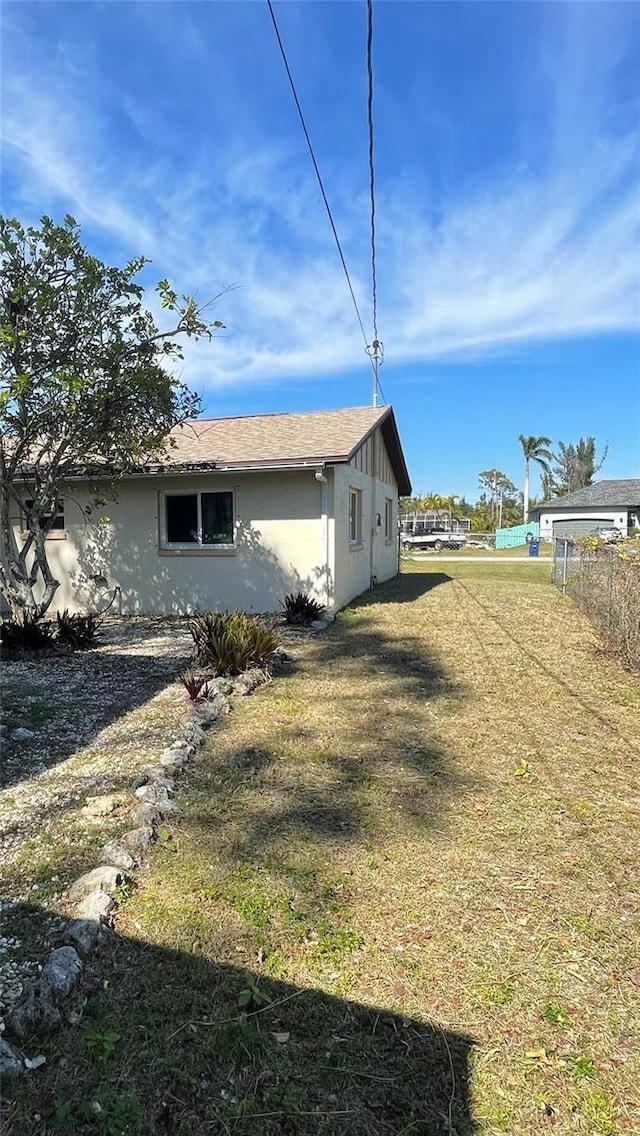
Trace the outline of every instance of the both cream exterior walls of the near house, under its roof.
<instances>
[{"instance_id":1,"label":"both cream exterior walls of the near house, under its roof","mask_svg":"<svg viewBox=\"0 0 640 1136\"><path fill-rule=\"evenodd\" d=\"M65 499L65 529L48 538L60 580L50 611L182 615L194 610L277 611L302 590L338 610L398 571L398 486L380 431L349 466L296 471L135 477L92 513L77 485ZM349 494L361 494L361 533L349 540ZM232 549L163 549L163 493L232 491ZM75 500L74 500L75 499ZM389 508L385 504L389 502ZM385 521L388 521L385 532ZM16 532L20 524L16 518ZM18 536L19 542L19 536ZM116 588L119 590L116 593Z\"/></svg>"}]
</instances>

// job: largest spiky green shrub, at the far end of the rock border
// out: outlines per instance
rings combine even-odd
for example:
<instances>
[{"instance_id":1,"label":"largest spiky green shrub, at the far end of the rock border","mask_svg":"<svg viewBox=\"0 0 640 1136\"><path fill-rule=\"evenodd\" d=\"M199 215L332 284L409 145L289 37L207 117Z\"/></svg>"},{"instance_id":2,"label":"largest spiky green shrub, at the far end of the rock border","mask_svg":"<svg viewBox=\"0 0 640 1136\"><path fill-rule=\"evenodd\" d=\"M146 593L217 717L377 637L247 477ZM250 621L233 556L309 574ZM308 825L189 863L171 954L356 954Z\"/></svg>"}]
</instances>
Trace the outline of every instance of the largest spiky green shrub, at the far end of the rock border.
<instances>
[{"instance_id":1,"label":"largest spiky green shrub, at the far end of the rock border","mask_svg":"<svg viewBox=\"0 0 640 1136\"><path fill-rule=\"evenodd\" d=\"M275 627L244 611L206 611L193 616L189 630L198 662L217 675L239 675L249 667L265 667L273 659L280 638Z\"/></svg>"}]
</instances>

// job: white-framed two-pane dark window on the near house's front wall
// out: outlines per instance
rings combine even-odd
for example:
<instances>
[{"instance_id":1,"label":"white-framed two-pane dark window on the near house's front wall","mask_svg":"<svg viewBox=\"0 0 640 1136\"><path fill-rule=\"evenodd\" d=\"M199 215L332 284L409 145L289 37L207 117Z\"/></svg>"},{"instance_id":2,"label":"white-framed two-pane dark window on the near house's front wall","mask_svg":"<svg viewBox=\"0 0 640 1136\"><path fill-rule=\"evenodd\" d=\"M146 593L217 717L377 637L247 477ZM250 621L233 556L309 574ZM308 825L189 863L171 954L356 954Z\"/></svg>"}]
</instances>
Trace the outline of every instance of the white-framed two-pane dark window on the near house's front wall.
<instances>
[{"instance_id":1,"label":"white-framed two-pane dark window on the near house's front wall","mask_svg":"<svg viewBox=\"0 0 640 1136\"><path fill-rule=\"evenodd\" d=\"M163 496L163 548L214 549L233 544L233 493Z\"/></svg>"}]
</instances>

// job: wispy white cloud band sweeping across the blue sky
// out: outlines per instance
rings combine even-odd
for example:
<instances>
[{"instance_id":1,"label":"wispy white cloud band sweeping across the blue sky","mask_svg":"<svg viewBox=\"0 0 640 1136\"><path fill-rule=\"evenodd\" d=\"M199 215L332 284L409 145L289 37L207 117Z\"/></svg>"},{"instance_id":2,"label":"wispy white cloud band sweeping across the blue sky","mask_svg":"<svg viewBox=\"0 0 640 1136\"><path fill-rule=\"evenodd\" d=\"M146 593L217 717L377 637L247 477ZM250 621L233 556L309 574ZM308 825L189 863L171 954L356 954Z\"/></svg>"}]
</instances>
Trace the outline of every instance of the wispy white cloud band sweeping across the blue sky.
<instances>
[{"instance_id":1,"label":"wispy white cloud band sweeping across the blue sky","mask_svg":"<svg viewBox=\"0 0 640 1136\"><path fill-rule=\"evenodd\" d=\"M593 120L601 117L590 92ZM476 183L435 223L416 207L406 174L380 182L380 327L394 366L482 358L515 344L638 327L638 137L558 144L542 173L513 169L500 185ZM123 109L148 147L153 115ZM280 383L361 368L360 333L313 172L282 142L243 150L203 145L176 175L157 161L110 152L102 112L61 82L34 94L14 78L2 119L6 162L26 208L70 211L125 254L153 258L202 300L225 285L213 346L189 345L185 378L205 389ZM566 151L566 153L565 153ZM346 178L341 182L344 184ZM366 202L334 201L347 259L368 325ZM88 237L89 239L89 237Z\"/></svg>"}]
</instances>

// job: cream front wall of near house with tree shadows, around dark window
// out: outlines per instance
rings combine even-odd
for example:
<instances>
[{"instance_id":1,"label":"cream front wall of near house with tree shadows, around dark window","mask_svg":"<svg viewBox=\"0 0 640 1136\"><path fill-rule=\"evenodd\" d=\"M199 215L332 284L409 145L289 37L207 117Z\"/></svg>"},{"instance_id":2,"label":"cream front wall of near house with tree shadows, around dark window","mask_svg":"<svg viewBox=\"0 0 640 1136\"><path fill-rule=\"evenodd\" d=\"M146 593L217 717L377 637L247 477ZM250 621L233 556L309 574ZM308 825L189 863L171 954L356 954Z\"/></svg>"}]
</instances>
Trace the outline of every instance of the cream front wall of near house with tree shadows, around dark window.
<instances>
[{"instance_id":1,"label":"cream front wall of near house with tree shadows, around dark window","mask_svg":"<svg viewBox=\"0 0 640 1136\"><path fill-rule=\"evenodd\" d=\"M160 493L167 490L232 490L234 548L160 549ZM333 525L327 516L323 526L322 492L314 469L132 478L118 486L116 502L101 508L108 523L97 525L88 525L80 504L67 498L65 533L48 541L51 568L60 580L50 610L100 610L116 586L124 615L238 607L276 611L284 595L298 588L333 607L333 573L325 559L327 548L332 556ZM331 484L325 492L331 509ZM88 502L82 490L74 495ZM95 583L95 576L102 580ZM111 611L117 608L116 602Z\"/></svg>"}]
</instances>

